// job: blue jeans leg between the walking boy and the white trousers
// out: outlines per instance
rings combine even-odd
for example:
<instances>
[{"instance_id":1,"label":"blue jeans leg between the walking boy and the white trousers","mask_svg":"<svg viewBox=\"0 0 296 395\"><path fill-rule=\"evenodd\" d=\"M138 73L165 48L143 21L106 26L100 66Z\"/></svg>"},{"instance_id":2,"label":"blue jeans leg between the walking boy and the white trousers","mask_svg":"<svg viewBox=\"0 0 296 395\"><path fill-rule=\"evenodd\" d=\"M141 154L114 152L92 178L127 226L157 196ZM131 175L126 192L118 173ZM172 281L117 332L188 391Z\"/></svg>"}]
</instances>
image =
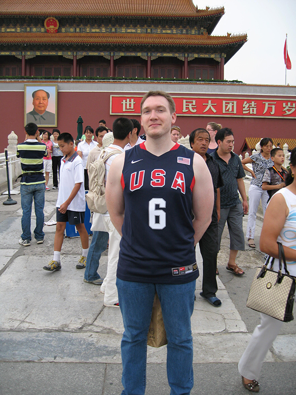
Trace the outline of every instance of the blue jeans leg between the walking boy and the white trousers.
<instances>
[{"instance_id":1,"label":"blue jeans leg between the walking boy and the white trousers","mask_svg":"<svg viewBox=\"0 0 296 395\"><path fill-rule=\"evenodd\" d=\"M87 281L94 281L101 278L97 270L99 268L100 258L102 252L104 252L108 245L109 233L94 231L91 244L89 246L86 267L84 272L84 278Z\"/></svg>"}]
</instances>

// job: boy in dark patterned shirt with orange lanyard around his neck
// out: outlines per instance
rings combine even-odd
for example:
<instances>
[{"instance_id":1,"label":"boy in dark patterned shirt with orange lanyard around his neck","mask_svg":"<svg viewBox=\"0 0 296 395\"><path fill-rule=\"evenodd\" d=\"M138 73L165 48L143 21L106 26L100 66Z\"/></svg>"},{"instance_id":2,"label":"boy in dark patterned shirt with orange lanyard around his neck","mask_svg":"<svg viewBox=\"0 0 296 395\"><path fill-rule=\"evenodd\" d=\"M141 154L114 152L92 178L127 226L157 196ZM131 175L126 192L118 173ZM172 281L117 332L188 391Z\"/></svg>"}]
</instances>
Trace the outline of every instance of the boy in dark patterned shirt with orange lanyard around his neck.
<instances>
[{"instance_id":1,"label":"boy in dark patterned shirt with orange lanyard around his neck","mask_svg":"<svg viewBox=\"0 0 296 395\"><path fill-rule=\"evenodd\" d=\"M268 201L279 189L285 187L285 174L287 173L287 170L283 167L285 154L281 148L271 150L270 158L274 165L265 171L262 179L262 190L267 191Z\"/></svg>"}]
</instances>

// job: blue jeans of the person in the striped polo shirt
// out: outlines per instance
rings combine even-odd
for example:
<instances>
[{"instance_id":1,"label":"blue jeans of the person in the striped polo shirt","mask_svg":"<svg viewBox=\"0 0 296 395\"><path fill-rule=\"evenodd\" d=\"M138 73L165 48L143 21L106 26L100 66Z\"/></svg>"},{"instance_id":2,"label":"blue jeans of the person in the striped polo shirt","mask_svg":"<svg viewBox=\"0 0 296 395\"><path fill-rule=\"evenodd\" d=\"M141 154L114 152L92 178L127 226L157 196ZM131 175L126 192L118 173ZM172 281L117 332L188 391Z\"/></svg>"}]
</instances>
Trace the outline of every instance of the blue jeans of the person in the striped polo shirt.
<instances>
[{"instance_id":1,"label":"blue jeans of the person in the striped polo shirt","mask_svg":"<svg viewBox=\"0 0 296 395\"><path fill-rule=\"evenodd\" d=\"M32 240L31 237L31 214L32 203L34 199L35 215L36 215L36 228L34 235L36 240L44 238L43 222L44 222L44 201L45 201L45 183L26 185L21 184L21 203L22 203L22 239Z\"/></svg>"}]
</instances>

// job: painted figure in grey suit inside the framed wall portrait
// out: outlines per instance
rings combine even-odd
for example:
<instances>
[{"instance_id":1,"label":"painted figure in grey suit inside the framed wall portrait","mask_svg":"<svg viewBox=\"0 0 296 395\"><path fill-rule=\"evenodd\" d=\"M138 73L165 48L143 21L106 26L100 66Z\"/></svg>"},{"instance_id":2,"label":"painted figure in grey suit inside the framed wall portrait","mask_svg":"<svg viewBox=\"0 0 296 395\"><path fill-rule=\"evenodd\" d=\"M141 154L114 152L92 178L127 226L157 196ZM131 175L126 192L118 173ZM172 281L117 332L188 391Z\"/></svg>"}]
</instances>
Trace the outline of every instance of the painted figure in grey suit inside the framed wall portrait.
<instances>
[{"instance_id":1,"label":"painted figure in grey suit inside the framed wall portrait","mask_svg":"<svg viewBox=\"0 0 296 395\"><path fill-rule=\"evenodd\" d=\"M37 125L55 125L55 114L46 111L50 97L46 90L39 89L32 93L33 111L27 113L27 123L34 122Z\"/></svg>"}]
</instances>

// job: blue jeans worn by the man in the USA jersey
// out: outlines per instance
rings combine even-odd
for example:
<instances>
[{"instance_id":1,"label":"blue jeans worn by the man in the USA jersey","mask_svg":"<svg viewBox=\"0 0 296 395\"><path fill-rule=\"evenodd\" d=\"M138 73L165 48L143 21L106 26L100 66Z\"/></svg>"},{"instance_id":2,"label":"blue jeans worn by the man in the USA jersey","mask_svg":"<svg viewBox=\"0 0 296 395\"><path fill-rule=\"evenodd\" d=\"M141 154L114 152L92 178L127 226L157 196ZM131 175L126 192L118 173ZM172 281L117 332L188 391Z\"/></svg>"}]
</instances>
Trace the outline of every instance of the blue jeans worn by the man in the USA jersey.
<instances>
[{"instance_id":1,"label":"blue jeans worn by the man in the USA jersey","mask_svg":"<svg viewBox=\"0 0 296 395\"><path fill-rule=\"evenodd\" d=\"M151 284L117 278L124 333L121 341L121 395L144 395L146 388L147 335L155 291L167 334L167 376L170 395L189 395L193 387L193 344L190 317L195 280L186 284Z\"/></svg>"}]
</instances>

